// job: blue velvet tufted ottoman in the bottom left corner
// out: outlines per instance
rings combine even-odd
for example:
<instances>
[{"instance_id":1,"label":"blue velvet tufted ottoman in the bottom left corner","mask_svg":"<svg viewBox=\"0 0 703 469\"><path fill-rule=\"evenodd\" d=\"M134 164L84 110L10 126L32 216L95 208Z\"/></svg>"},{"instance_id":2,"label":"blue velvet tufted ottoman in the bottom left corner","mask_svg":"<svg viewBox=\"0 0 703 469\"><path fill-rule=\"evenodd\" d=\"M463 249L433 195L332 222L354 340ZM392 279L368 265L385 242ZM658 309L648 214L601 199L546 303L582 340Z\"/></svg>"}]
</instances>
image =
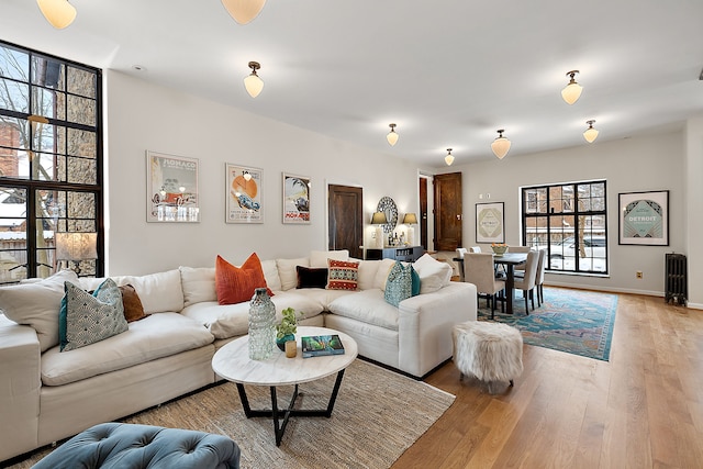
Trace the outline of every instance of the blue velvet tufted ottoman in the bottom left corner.
<instances>
[{"instance_id":1,"label":"blue velvet tufted ottoman in the bottom left corner","mask_svg":"<svg viewBox=\"0 0 703 469\"><path fill-rule=\"evenodd\" d=\"M56 448L34 469L238 469L231 438L190 429L103 423Z\"/></svg>"}]
</instances>

